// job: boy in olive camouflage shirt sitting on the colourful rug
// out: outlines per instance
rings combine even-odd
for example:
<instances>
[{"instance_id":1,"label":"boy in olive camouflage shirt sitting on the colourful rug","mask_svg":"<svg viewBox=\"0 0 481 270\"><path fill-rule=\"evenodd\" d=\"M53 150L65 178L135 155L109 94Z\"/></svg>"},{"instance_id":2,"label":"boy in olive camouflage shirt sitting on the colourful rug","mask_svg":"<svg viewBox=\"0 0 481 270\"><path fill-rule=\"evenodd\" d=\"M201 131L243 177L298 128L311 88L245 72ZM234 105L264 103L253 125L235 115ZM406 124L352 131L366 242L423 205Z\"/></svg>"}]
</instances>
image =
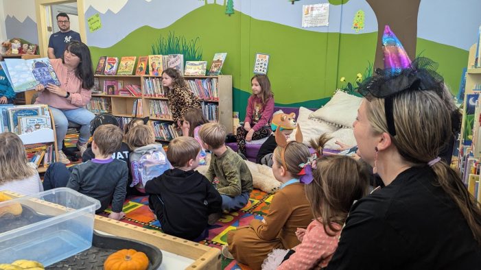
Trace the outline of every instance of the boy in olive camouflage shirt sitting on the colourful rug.
<instances>
[{"instance_id":1,"label":"boy in olive camouflage shirt sitting on the colourful rug","mask_svg":"<svg viewBox=\"0 0 481 270\"><path fill-rule=\"evenodd\" d=\"M211 182L218 177L217 190L222 196L222 210L231 212L243 208L253 191L253 175L246 162L226 147L225 127L219 123L204 124L199 136L203 147L212 151L211 164L205 177Z\"/></svg>"}]
</instances>

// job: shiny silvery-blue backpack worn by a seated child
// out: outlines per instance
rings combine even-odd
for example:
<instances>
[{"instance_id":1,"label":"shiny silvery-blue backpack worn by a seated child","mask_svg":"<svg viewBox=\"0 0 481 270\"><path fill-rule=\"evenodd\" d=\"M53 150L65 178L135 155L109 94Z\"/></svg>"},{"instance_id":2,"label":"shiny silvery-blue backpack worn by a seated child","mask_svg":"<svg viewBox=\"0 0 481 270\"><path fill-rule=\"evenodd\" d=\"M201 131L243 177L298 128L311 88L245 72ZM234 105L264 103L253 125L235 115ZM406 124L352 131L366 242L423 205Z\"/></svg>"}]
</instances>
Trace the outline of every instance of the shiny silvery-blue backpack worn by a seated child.
<instances>
[{"instance_id":1,"label":"shiny silvery-blue backpack worn by a seated child","mask_svg":"<svg viewBox=\"0 0 481 270\"><path fill-rule=\"evenodd\" d=\"M148 151L139 160L130 162L132 171L132 184L136 188L143 189L145 184L170 169L167 156L161 151Z\"/></svg>"}]
</instances>

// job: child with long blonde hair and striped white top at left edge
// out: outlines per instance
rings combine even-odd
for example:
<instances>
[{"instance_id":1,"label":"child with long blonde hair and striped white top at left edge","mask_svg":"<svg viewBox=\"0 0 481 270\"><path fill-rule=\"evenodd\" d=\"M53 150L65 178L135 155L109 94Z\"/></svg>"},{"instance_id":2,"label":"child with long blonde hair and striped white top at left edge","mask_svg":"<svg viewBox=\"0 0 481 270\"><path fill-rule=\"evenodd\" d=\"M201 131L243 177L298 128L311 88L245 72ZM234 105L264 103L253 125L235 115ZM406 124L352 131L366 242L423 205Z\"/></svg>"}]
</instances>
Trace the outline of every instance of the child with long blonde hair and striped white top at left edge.
<instances>
[{"instance_id":1,"label":"child with long blonde hair and striped white top at left edge","mask_svg":"<svg viewBox=\"0 0 481 270\"><path fill-rule=\"evenodd\" d=\"M31 195L43 191L35 164L27 161L25 147L19 136L0 133L0 191Z\"/></svg>"}]
</instances>

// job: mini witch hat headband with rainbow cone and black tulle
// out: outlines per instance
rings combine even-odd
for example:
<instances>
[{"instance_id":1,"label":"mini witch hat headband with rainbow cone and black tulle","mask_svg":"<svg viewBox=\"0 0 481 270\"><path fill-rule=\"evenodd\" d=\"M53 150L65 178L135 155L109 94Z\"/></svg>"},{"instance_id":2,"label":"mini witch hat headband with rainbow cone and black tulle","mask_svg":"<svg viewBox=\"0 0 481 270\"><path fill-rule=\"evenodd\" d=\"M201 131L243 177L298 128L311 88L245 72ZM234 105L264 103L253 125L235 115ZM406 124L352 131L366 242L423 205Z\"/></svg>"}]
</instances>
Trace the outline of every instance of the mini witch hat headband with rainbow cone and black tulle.
<instances>
[{"instance_id":1,"label":"mini witch hat headband with rainbow cone and black tulle","mask_svg":"<svg viewBox=\"0 0 481 270\"><path fill-rule=\"evenodd\" d=\"M444 79L436 70L438 63L425 57L414 61L408 57L403 45L388 25L382 37L384 69L376 69L375 74L362 82L357 89L366 99L384 98L386 123L391 136L396 136L392 114L393 99L405 90L436 90L442 97Z\"/></svg>"}]
</instances>

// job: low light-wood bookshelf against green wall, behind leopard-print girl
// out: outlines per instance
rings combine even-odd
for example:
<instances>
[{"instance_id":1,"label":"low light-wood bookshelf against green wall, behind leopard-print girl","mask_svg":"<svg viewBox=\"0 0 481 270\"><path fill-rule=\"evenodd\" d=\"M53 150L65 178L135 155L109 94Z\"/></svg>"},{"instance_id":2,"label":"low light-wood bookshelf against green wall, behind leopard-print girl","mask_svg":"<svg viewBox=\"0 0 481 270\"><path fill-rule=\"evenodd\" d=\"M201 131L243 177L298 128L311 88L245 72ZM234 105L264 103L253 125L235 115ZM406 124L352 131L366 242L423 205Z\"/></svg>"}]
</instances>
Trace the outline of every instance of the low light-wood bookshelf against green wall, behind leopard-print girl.
<instances>
[{"instance_id":1,"label":"low light-wood bookshelf against green wall, behind leopard-print girl","mask_svg":"<svg viewBox=\"0 0 481 270\"><path fill-rule=\"evenodd\" d=\"M132 84L140 86L141 96L92 94L93 99L98 98L105 102L91 103L89 110L94 113L110 112L114 116L128 118L150 116L150 122L154 129L156 125L168 129L168 126L174 123L169 117L169 99L161 93L161 76L95 75L95 78L98 79L101 91L104 90L106 82L108 84L108 81L117 80L122 82L124 88ZM202 85L210 87L211 93L214 93L214 89L216 90L217 94L214 94L213 97L209 97L205 93L197 93L195 89L193 92L200 97L202 111L209 120L218 121L226 126L226 130L232 130L232 76L185 76L184 79L191 89L196 86L200 88L200 85L204 83ZM208 84L209 86L207 86ZM137 113L134 113L136 105L141 106L141 109L138 108ZM168 143L169 138L167 137L157 137L157 140L161 143Z\"/></svg>"}]
</instances>

